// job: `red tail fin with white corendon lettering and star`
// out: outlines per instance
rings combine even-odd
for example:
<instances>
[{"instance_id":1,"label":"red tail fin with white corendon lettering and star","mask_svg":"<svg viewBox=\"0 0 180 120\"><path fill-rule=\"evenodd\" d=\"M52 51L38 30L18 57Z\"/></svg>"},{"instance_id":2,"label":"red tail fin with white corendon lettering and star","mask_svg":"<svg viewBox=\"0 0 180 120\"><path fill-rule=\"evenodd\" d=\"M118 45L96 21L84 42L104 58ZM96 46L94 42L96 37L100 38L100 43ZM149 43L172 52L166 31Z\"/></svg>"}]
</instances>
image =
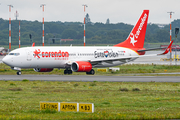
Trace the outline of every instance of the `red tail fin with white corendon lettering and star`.
<instances>
[{"instance_id":1,"label":"red tail fin with white corendon lettering and star","mask_svg":"<svg viewBox=\"0 0 180 120\"><path fill-rule=\"evenodd\" d=\"M144 10L138 22L132 29L128 38L114 47L126 47L131 49L142 49L144 46L144 39L146 35L146 27L148 21L149 10Z\"/></svg>"}]
</instances>

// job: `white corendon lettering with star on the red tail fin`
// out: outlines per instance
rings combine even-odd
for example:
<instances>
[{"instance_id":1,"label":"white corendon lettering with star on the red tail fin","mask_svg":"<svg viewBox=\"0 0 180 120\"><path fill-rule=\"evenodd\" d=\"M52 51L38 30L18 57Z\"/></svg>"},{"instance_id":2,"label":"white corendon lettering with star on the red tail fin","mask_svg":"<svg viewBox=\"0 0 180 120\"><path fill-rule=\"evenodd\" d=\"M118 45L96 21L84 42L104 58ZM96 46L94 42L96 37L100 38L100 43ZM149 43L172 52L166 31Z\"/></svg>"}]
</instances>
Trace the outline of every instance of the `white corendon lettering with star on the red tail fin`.
<instances>
[{"instance_id":1,"label":"white corendon lettering with star on the red tail fin","mask_svg":"<svg viewBox=\"0 0 180 120\"><path fill-rule=\"evenodd\" d=\"M131 39L130 43L131 43L133 46L135 46L134 43L137 42L137 40L135 40L135 38L138 39L138 37L139 37L139 35L140 35L140 33L141 33L141 30L142 30L142 28L143 28L143 25L144 25L144 23L145 23L145 21L146 21L146 19L147 19L147 14L145 13L145 14L144 14L144 17L141 18L141 23L140 23L140 25L139 25L139 27L138 27L138 29L137 29L137 31L136 31L136 34L134 35L133 33L131 33L132 37L130 37L130 39Z\"/></svg>"}]
</instances>

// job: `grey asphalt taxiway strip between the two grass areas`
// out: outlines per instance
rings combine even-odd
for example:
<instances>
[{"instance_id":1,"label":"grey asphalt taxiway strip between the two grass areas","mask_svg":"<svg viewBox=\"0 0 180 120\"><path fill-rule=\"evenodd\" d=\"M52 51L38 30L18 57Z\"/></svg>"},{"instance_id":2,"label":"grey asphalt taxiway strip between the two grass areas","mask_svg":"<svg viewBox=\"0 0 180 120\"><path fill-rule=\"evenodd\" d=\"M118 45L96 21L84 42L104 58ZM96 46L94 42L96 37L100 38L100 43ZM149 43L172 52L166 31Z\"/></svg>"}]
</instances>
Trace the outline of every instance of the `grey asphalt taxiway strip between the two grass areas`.
<instances>
[{"instance_id":1,"label":"grey asphalt taxiway strip between the two grass areas","mask_svg":"<svg viewBox=\"0 0 180 120\"><path fill-rule=\"evenodd\" d=\"M0 80L75 81L75 82L180 82L180 76L91 76L91 75L0 75Z\"/></svg>"}]
</instances>

